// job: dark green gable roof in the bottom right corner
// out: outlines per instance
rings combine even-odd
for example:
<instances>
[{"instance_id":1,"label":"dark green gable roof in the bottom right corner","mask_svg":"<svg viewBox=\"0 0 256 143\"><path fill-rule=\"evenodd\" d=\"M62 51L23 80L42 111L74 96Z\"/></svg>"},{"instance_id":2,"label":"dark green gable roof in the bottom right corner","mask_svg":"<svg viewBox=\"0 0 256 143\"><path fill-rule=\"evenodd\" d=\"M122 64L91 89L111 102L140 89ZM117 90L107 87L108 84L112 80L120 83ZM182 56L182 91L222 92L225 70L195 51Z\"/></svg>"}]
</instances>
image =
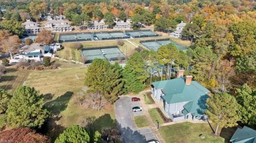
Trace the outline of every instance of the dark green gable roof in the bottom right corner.
<instances>
[{"instance_id":1,"label":"dark green gable roof in the bottom right corner","mask_svg":"<svg viewBox=\"0 0 256 143\"><path fill-rule=\"evenodd\" d=\"M242 129L236 129L236 132L230 138L230 142L246 142L246 143L256 143L256 131L247 126Z\"/></svg>"}]
</instances>

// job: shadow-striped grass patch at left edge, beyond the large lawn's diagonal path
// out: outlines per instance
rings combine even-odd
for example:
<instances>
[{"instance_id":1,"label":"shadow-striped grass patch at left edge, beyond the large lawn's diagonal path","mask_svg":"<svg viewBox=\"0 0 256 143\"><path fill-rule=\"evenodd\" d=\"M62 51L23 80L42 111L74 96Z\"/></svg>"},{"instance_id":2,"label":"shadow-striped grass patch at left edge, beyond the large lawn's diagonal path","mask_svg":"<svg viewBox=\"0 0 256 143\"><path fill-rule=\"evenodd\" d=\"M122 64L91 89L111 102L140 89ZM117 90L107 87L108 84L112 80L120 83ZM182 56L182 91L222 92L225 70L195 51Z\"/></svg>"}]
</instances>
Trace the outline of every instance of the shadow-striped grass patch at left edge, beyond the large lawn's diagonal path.
<instances>
[{"instance_id":1,"label":"shadow-striped grass patch at left edge, beyond the large lawn's diagonal path","mask_svg":"<svg viewBox=\"0 0 256 143\"><path fill-rule=\"evenodd\" d=\"M0 88L13 93L18 86L22 86L30 72L26 70L19 71L13 66L7 67L7 73L0 80Z\"/></svg>"}]
</instances>

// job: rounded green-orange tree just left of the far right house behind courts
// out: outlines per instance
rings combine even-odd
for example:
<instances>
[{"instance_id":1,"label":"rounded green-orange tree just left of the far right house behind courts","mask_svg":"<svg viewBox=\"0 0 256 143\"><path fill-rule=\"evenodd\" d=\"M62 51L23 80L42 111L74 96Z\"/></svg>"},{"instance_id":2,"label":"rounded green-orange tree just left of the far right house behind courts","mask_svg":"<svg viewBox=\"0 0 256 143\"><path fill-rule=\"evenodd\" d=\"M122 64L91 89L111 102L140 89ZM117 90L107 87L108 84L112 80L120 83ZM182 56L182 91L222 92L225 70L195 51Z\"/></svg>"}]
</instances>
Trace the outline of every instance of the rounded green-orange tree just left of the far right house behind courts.
<instances>
[{"instance_id":1,"label":"rounded green-orange tree just left of the far right house behind courts","mask_svg":"<svg viewBox=\"0 0 256 143\"><path fill-rule=\"evenodd\" d=\"M167 29L175 29L176 22L173 20L168 20L167 18L158 18L155 22L154 28L155 29L161 29L161 30L167 30Z\"/></svg>"}]
</instances>

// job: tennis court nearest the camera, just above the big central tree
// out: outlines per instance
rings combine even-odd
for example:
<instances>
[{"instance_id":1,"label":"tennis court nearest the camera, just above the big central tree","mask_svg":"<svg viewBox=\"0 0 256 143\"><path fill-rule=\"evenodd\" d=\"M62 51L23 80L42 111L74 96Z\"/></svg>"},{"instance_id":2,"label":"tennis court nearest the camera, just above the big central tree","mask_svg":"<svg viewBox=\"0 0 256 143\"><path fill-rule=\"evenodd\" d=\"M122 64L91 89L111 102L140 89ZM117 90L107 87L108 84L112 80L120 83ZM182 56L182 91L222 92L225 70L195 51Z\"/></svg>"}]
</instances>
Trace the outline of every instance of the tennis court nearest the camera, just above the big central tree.
<instances>
[{"instance_id":1,"label":"tennis court nearest the camera, just above the big central tree","mask_svg":"<svg viewBox=\"0 0 256 143\"><path fill-rule=\"evenodd\" d=\"M82 50L83 57L86 59L85 63L92 63L93 59L107 59L108 61L117 61L118 59L125 59L125 55L119 50L119 48L112 47L98 47L87 48Z\"/></svg>"}]
</instances>

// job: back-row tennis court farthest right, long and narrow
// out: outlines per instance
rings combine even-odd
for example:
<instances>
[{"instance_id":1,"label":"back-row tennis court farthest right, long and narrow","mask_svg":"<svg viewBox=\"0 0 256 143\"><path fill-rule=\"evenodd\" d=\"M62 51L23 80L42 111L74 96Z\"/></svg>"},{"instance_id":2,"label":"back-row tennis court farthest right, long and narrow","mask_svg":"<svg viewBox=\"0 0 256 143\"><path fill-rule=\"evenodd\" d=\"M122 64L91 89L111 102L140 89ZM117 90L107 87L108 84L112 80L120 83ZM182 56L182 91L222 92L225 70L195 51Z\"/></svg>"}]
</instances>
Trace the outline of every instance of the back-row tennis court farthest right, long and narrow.
<instances>
[{"instance_id":1,"label":"back-row tennis court farthest right, long and narrow","mask_svg":"<svg viewBox=\"0 0 256 143\"><path fill-rule=\"evenodd\" d=\"M154 33L150 30L143 31L126 31L126 35L130 35L133 38L142 38L142 37L159 37L161 35Z\"/></svg>"}]
</instances>

